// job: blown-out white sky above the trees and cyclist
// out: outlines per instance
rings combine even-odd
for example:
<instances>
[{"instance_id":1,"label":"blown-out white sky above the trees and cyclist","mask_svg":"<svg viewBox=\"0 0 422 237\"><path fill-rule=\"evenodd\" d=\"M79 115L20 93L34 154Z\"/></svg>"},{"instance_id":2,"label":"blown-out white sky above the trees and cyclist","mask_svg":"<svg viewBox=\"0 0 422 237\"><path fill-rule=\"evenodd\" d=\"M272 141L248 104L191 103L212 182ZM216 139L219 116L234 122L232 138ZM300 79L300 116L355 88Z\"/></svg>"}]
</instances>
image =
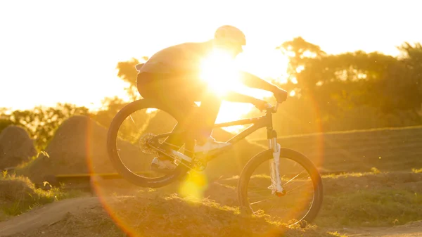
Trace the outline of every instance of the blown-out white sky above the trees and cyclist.
<instances>
[{"instance_id":1,"label":"blown-out white sky above the trees and cyclist","mask_svg":"<svg viewBox=\"0 0 422 237\"><path fill-rule=\"evenodd\" d=\"M363 49L395 55L403 41L422 41L421 5L418 0L0 1L0 107L98 106L105 96L124 95L117 62L210 39L226 24L245 32L245 68L262 77L283 71L283 59L274 57L273 49L298 36L328 53Z\"/></svg>"}]
</instances>

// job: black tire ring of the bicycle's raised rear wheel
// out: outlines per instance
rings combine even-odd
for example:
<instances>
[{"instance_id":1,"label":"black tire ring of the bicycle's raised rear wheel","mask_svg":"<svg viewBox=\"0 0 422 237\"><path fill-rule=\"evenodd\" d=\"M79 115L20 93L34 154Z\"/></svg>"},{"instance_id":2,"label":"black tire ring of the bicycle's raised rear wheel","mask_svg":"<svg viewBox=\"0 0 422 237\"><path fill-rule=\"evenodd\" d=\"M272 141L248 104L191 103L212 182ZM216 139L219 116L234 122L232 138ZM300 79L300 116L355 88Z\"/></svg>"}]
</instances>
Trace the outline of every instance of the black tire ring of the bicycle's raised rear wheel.
<instances>
[{"instance_id":1,"label":"black tire ring of the bicycle's raised rear wheel","mask_svg":"<svg viewBox=\"0 0 422 237\"><path fill-rule=\"evenodd\" d=\"M116 115L113 117L112 122L110 123L110 127L108 129L107 134L107 149L108 149L108 157L115 169L119 174L122 175L124 179L141 187L148 187L148 188L159 188L162 186L166 186L167 184L171 184L173 181L179 179L181 176L186 174L188 168L184 165L179 165L177 168L174 169L174 172L171 174L167 174L163 177L158 178L147 178L141 177L138 174L130 171L126 165L123 164L122 160L120 159L119 153L117 152L117 132L119 131L120 125L122 122L132 113L136 112L136 110L141 110L145 108L158 108L159 110L163 110L166 113L169 113L174 117L174 119L179 122L181 117L183 116L179 111L172 109L159 101L151 100L151 99L141 99L138 101L133 101L128 105L125 105Z\"/></svg>"}]
</instances>

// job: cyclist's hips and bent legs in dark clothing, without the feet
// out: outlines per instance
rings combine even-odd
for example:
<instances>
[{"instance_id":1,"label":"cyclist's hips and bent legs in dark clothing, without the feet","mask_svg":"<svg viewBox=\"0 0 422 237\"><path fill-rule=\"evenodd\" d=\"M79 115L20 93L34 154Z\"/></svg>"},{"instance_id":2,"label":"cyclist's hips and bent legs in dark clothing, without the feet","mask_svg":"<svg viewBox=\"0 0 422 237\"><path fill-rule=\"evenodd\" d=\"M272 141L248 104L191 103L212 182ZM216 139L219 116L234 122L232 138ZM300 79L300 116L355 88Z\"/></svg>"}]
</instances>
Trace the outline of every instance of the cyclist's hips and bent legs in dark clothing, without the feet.
<instances>
[{"instance_id":1,"label":"cyclist's hips and bent legs in dark clothing, without the feet","mask_svg":"<svg viewBox=\"0 0 422 237\"><path fill-rule=\"evenodd\" d=\"M174 127L174 135L167 138L163 147L169 148L167 145L181 147L186 139L196 139L199 144L208 141L222 99L217 94L207 90L205 84L192 75L145 72L143 74L146 77L139 75L137 79L141 96L155 98L167 105L177 107L185 115L184 120ZM150 83L151 81L158 83ZM140 82L148 83L142 84ZM148 86L145 84L148 84ZM195 101L200 101L199 108L195 106Z\"/></svg>"}]
</instances>

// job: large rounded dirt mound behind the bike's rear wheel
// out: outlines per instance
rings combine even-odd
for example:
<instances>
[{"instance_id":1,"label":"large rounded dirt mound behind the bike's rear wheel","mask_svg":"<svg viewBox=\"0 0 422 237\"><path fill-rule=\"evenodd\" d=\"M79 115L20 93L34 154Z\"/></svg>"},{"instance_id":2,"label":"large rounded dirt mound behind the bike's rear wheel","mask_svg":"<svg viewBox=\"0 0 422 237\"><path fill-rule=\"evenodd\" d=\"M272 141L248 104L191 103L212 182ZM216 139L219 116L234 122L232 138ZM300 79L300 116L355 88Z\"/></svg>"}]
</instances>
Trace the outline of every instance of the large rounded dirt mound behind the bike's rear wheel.
<instances>
[{"instance_id":1,"label":"large rounded dirt mound behind the bike's rear wheel","mask_svg":"<svg viewBox=\"0 0 422 237\"><path fill-rule=\"evenodd\" d=\"M56 134L46 148L32 163L23 167L21 173L34 182L44 181L55 174L114 173L107 153L107 132L105 127L86 116L73 116L58 127ZM136 146L118 141L123 157L143 158ZM129 156L130 155L130 156ZM139 160L124 160L132 168L145 169Z\"/></svg>"}]
</instances>

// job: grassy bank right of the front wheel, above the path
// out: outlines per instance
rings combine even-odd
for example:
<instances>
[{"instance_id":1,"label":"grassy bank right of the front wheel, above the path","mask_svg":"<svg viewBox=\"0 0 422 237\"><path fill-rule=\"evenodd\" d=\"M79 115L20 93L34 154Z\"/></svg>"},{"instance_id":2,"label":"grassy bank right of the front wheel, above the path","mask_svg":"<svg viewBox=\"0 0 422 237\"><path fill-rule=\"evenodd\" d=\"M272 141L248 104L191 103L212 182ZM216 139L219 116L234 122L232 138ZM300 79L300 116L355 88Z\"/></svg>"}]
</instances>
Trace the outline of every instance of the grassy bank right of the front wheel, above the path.
<instances>
[{"instance_id":1,"label":"grassy bank right of the front wheel, above the path","mask_svg":"<svg viewBox=\"0 0 422 237\"><path fill-rule=\"evenodd\" d=\"M422 173L324 176L319 226L394 226L422 219Z\"/></svg>"}]
</instances>

